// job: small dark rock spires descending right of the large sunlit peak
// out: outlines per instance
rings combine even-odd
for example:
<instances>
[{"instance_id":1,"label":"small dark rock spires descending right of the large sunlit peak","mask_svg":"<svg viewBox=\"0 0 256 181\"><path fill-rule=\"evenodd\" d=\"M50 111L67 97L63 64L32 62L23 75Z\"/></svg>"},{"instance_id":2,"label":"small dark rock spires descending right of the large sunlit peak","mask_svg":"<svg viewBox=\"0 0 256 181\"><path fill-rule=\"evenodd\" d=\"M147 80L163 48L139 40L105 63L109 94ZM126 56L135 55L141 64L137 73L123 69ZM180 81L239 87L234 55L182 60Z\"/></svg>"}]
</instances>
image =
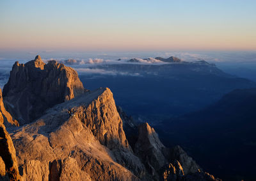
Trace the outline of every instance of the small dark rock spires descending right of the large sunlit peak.
<instances>
[{"instance_id":1,"label":"small dark rock spires descending right of the large sunlit peak","mask_svg":"<svg viewBox=\"0 0 256 181\"><path fill-rule=\"evenodd\" d=\"M208 179L207 173L198 172L200 166L180 146L166 148L148 123L143 123L138 129L134 152L155 180Z\"/></svg>"}]
</instances>

